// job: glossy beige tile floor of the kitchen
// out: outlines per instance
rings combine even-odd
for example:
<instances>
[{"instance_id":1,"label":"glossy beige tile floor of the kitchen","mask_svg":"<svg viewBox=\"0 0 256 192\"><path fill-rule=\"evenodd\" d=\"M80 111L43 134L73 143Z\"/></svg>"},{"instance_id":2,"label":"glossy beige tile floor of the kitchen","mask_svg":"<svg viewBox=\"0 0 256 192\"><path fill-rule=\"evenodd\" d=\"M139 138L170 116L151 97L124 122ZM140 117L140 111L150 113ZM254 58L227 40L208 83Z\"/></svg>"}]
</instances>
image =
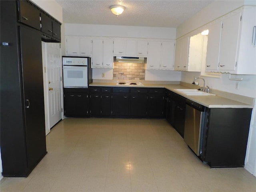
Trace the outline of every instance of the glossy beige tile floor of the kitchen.
<instances>
[{"instance_id":1,"label":"glossy beige tile floor of the kitchen","mask_svg":"<svg viewBox=\"0 0 256 192\"><path fill-rule=\"evenodd\" d=\"M255 192L244 168L210 169L166 120L68 118L46 136L48 154L1 192Z\"/></svg>"}]
</instances>

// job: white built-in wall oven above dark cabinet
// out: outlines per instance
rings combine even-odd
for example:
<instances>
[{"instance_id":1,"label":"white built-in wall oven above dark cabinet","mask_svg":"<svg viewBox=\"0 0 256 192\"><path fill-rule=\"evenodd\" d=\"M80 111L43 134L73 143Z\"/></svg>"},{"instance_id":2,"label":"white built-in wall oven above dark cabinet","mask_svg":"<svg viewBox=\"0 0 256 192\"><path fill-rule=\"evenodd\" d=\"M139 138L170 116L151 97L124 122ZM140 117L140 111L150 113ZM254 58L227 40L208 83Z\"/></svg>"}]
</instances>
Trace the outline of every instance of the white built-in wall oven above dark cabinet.
<instances>
[{"instance_id":1,"label":"white built-in wall oven above dark cabinet","mask_svg":"<svg viewBox=\"0 0 256 192\"><path fill-rule=\"evenodd\" d=\"M86 57L62 57L64 88L88 88L89 60Z\"/></svg>"}]
</instances>

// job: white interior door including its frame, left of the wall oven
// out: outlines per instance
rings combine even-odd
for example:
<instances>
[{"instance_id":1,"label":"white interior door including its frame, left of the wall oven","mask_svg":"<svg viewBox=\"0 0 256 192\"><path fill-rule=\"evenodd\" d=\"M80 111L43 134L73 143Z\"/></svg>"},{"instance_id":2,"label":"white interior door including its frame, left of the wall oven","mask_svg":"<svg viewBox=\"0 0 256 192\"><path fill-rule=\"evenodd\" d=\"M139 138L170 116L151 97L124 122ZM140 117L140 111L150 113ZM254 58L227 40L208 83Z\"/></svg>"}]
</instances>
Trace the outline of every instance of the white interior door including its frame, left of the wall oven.
<instances>
[{"instance_id":1,"label":"white interior door including its frame, left of the wall oven","mask_svg":"<svg viewBox=\"0 0 256 192\"><path fill-rule=\"evenodd\" d=\"M46 135L62 118L62 59L59 43L42 42Z\"/></svg>"}]
</instances>

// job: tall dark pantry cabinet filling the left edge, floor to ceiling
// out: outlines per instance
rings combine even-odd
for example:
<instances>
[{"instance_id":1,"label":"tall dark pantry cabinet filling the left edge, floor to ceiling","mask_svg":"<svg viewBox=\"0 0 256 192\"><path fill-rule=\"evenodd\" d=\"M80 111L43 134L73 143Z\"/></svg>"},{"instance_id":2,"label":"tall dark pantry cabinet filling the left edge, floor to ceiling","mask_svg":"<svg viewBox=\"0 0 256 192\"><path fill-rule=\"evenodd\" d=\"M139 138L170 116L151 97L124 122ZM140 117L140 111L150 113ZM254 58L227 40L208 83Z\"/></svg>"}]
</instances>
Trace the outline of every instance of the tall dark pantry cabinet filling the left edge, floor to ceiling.
<instances>
[{"instance_id":1,"label":"tall dark pantry cabinet filling the left edge, floor to ceiling","mask_svg":"<svg viewBox=\"0 0 256 192\"><path fill-rule=\"evenodd\" d=\"M48 37L41 14L30 1L0 1L0 147L6 177L28 176L47 153L42 37Z\"/></svg>"}]
</instances>

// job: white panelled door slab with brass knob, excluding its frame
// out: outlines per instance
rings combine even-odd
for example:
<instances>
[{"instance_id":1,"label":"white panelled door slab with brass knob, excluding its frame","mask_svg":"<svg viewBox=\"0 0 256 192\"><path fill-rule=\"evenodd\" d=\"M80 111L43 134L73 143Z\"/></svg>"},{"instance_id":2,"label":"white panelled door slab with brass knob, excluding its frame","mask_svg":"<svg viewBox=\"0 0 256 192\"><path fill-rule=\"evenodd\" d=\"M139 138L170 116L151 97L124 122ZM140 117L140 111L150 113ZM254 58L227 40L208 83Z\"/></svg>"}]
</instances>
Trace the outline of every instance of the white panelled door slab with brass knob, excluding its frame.
<instances>
[{"instance_id":1,"label":"white panelled door slab with brass knob, excluding its frame","mask_svg":"<svg viewBox=\"0 0 256 192\"><path fill-rule=\"evenodd\" d=\"M62 59L59 43L46 43L46 69L49 99L49 124L52 128L61 120Z\"/></svg>"}]
</instances>

